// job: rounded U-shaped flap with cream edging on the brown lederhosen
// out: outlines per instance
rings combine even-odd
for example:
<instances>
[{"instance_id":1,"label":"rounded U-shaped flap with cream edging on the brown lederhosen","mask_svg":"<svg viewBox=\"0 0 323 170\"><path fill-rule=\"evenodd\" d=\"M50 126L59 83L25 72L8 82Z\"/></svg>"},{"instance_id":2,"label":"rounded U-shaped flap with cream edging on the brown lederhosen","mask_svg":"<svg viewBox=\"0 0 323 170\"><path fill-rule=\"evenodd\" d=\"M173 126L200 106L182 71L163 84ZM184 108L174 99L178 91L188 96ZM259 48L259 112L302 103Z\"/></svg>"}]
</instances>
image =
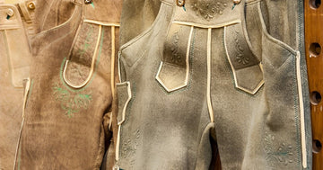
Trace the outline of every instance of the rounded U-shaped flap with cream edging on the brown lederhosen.
<instances>
[{"instance_id":1,"label":"rounded U-shaped flap with cream edging on the brown lederhosen","mask_svg":"<svg viewBox=\"0 0 323 170\"><path fill-rule=\"evenodd\" d=\"M97 58L100 57L103 34L102 25L81 23L69 57L65 60L63 79L66 85L82 88L89 83L97 66Z\"/></svg>"}]
</instances>

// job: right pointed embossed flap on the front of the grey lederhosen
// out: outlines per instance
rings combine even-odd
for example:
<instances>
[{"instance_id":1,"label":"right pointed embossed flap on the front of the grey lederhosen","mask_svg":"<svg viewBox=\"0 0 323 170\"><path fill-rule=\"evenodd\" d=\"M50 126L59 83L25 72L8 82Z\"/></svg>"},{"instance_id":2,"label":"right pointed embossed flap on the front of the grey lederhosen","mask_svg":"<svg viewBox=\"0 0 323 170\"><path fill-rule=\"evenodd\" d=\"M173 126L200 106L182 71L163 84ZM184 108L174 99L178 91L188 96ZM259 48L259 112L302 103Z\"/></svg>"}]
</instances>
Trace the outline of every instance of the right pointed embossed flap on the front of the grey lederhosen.
<instances>
[{"instance_id":1,"label":"right pointed embossed flap on the front of the grey lederhosen","mask_svg":"<svg viewBox=\"0 0 323 170\"><path fill-rule=\"evenodd\" d=\"M259 57L249 47L241 23L224 27L224 47L236 88L256 94L264 85L263 70Z\"/></svg>"}]
</instances>

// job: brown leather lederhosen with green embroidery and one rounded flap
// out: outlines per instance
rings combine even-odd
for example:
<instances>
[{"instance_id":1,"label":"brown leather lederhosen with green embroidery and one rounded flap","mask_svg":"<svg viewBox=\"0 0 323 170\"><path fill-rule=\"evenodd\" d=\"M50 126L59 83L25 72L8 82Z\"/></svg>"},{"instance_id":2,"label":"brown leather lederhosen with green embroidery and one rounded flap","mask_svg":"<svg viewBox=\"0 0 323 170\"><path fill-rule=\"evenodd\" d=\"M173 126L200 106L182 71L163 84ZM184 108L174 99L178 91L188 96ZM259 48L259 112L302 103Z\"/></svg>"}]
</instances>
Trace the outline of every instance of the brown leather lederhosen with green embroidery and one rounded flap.
<instances>
[{"instance_id":1,"label":"brown leather lederhosen with green embroidery and one rounded flap","mask_svg":"<svg viewBox=\"0 0 323 170\"><path fill-rule=\"evenodd\" d=\"M121 2L39 0L36 9L15 169L99 169L111 139Z\"/></svg>"}]
</instances>

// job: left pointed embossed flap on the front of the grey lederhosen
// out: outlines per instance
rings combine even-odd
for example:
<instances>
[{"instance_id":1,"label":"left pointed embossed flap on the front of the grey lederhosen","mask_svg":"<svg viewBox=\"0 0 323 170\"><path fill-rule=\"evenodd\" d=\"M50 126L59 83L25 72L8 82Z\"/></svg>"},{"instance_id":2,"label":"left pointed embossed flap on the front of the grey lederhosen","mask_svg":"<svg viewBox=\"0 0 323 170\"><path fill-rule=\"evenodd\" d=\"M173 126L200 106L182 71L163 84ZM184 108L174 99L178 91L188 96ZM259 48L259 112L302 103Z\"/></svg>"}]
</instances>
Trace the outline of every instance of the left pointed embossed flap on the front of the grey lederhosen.
<instances>
[{"instance_id":1,"label":"left pointed embossed flap on the front of the grey lederhosen","mask_svg":"<svg viewBox=\"0 0 323 170\"><path fill-rule=\"evenodd\" d=\"M193 26L171 24L163 47L163 59L156 80L167 92L188 85L189 53Z\"/></svg>"}]
</instances>

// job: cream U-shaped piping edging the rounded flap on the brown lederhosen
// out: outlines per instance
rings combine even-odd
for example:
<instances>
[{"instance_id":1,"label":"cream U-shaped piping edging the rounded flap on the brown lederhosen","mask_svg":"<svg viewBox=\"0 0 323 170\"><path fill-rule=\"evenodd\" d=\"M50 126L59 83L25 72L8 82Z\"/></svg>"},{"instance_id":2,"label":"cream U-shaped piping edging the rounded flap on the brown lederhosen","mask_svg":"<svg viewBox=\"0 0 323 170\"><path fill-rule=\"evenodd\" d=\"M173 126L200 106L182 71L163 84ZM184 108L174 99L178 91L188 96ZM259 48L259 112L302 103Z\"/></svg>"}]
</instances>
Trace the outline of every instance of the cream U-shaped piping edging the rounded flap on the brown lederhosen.
<instances>
[{"instance_id":1,"label":"cream U-shaped piping edging the rounded flap on the brown lederhosen","mask_svg":"<svg viewBox=\"0 0 323 170\"><path fill-rule=\"evenodd\" d=\"M95 45L95 50L94 50L94 53L93 53L93 56L92 56L92 63L91 63L91 70L90 70L90 74L89 76L86 78L86 80L83 82L83 84L81 85L73 85L72 83L68 82L66 77L65 77L65 72L66 72L66 67L68 65L68 62L69 60L67 59L65 61L65 67L64 67L64 71L63 71L63 79L65 81L65 83L73 88L82 88L83 86L87 85L93 75L93 72L94 72L94 66L95 66L95 61L96 61L96 58L97 58L97 52L98 52L98 47L99 47L99 44L100 44L100 36L101 36L101 31L102 31L102 26L99 25L99 33L98 33L98 39L97 39L97 43Z\"/></svg>"}]
</instances>

